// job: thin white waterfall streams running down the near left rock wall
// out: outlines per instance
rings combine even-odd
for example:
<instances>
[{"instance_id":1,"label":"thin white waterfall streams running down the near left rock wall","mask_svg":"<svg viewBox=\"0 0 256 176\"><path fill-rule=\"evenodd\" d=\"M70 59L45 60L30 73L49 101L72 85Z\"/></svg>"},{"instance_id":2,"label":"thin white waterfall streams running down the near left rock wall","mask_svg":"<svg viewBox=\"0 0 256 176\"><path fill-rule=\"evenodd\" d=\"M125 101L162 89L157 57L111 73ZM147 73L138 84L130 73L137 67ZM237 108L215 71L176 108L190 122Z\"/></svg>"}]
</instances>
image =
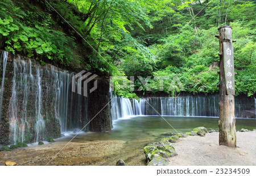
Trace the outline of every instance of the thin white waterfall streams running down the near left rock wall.
<instances>
[{"instance_id":1,"label":"thin white waterfall streams running down the near left rock wall","mask_svg":"<svg viewBox=\"0 0 256 176\"><path fill-rule=\"evenodd\" d=\"M60 137L60 132L82 128L88 123L88 98L71 91L74 73L21 57L8 61L7 70L7 56L8 52L2 52L0 112L5 109L2 115L9 119L9 143L55 139ZM5 73L13 73L12 77L9 74L10 81L5 82ZM3 93L4 87L10 91L5 88ZM10 100L7 104L5 98L3 104L6 93L10 94Z\"/></svg>"}]
</instances>

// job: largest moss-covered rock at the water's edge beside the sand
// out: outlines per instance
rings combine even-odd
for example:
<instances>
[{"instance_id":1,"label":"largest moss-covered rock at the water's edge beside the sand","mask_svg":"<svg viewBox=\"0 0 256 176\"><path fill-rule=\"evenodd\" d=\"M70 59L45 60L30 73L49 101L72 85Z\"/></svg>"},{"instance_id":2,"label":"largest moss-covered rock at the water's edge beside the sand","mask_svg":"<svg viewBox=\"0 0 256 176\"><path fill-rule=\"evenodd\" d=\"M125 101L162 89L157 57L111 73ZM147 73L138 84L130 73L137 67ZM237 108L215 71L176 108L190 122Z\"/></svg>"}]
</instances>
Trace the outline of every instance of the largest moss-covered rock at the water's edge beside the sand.
<instances>
[{"instance_id":1,"label":"largest moss-covered rock at the water's edge beside the sand","mask_svg":"<svg viewBox=\"0 0 256 176\"><path fill-rule=\"evenodd\" d=\"M168 141L160 141L151 143L144 147L147 162L153 160L155 154L163 158L170 158L177 155L174 147Z\"/></svg>"}]
</instances>

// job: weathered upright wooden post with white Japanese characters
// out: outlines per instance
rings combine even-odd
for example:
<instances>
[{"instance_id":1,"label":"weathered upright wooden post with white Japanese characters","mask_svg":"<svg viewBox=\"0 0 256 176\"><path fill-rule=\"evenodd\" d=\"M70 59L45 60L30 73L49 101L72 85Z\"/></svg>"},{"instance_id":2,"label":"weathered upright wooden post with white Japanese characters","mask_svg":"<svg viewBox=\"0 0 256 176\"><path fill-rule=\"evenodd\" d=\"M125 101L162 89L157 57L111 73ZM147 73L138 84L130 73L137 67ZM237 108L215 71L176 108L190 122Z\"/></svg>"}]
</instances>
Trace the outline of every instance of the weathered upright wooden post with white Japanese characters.
<instances>
[{"instance_id":1,"label":"weathered upright wooden post with white Japanese characters","mask_svg":"<svg viewBox=\"0 0 256 176\"><path fill-rule=\"evenodd\" d=\"M234 115L234 52L232 41L232 27L221 26L216 37L220 42L220 128L219 145L237 146L236 119Z\"/></svg>"}]
</instances>

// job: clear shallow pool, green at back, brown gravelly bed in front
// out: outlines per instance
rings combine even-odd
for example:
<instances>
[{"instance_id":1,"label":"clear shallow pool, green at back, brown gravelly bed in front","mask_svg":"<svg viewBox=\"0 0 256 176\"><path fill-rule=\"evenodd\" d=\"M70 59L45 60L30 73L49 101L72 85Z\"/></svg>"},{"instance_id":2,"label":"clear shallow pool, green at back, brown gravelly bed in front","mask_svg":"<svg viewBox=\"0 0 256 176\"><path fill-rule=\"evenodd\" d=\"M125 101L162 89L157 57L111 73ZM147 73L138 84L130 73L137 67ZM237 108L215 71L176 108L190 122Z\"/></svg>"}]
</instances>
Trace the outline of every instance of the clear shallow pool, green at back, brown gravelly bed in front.
<instances>
[{"instance_id":1,"label":"clear shallow pool, green at back, brown gravelly bed in front","mask_svg":"<svg viewBox=\"0 0 256 176\"><path fill-rule=\"evenodd\" d=\"M66 132L65 137L56 139L55 143L3 151L0 153L0 164L10 160L17 165L108 166L122 159L126 165L146 165L145 145L161 140L168 136L168 132L189 132L200 126L218 130L218 118L137 116L119 119L113 122L114 128L110 132ZM253 130L256 120L236 119L236 126L237 131L241 128Z\"/></svg>"}]
</instances>

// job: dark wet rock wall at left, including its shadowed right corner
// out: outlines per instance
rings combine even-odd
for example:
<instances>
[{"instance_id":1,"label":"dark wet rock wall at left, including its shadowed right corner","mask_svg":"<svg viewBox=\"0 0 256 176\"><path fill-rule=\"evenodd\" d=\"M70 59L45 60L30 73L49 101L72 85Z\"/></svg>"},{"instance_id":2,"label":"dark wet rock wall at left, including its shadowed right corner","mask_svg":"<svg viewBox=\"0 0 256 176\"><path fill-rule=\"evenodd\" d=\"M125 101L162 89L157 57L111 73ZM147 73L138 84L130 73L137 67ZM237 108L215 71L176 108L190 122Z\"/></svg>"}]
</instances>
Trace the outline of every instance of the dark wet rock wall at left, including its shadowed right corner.
<instances>
[{"instance_id":1,"label":"dark wet rock wall at left, including its shadowed right corner","mask_svg":"<svg viewBox=\"0 0 256 176\"><path fill-rule=\"evenodd\" d=\"M108 79L99 78L98 89L89 94L92 104L88 110L89 98L72 92L76 73L3 53L0 51L0 144L56 139L61 132L85 127L96 115L84 131L110 131L109 109L103 108L109 102Z\"/></svg>"}]
</instances>

